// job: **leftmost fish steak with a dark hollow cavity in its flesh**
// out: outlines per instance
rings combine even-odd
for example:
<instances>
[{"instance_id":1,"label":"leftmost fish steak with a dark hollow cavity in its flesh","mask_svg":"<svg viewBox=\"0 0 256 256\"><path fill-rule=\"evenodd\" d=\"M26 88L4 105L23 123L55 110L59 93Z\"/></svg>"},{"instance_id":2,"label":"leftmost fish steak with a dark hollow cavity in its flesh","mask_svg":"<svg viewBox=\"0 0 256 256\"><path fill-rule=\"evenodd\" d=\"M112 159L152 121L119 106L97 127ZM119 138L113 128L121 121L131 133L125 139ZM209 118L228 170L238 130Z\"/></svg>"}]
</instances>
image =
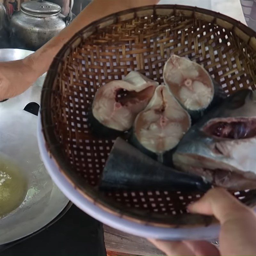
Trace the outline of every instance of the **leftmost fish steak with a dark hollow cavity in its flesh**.
<instances>
[{"instance_id":1,"label":"leftmost fish steak with a dark hollow cavity in its flesh","mask_svg":"<svg viewBox=\"0 0 256 256\"><path fill-rule=\"evenodd\" d=\"M127 131L136 115L147 106L157 85L156 81L131 71L123 80L109 82L98 89L92 103L92 116L112 130ZM118 98L120 90L126 92Z\"/></svg>"}]
</instances>

